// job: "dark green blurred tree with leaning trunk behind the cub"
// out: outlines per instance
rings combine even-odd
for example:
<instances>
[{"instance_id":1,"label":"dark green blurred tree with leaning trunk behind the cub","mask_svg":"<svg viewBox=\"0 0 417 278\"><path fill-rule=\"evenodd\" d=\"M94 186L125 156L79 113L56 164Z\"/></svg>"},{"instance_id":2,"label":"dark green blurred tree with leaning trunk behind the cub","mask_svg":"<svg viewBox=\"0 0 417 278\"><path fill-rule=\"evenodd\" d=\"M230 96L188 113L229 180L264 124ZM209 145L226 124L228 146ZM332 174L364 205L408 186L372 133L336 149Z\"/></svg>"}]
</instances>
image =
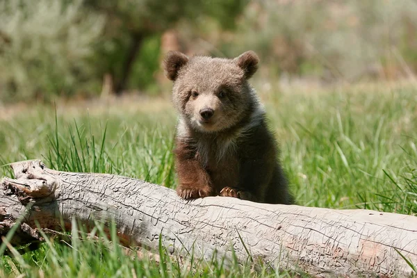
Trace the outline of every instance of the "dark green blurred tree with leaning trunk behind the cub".
<instances>
[{"instance_id":1,"label":"dark green blurred tree with leaning trunk behind the cub","mask_svg":"<svg viewBox=\"0 0 417 278\"><path fill-rule=\"evenodd\" d=\"M223 28L233 28L236 16L243 11L248 1L85 1L86 7L107 18L102 39L104 43L99 48L101 74L110 73L113 76L114 90L119 95L129 83L133 65L144 42L154 40L152 38L155 35L159 36L163 31L173 28L177 22L193 24L204 17L217 20Z\"/></svg>"}]
</instances>

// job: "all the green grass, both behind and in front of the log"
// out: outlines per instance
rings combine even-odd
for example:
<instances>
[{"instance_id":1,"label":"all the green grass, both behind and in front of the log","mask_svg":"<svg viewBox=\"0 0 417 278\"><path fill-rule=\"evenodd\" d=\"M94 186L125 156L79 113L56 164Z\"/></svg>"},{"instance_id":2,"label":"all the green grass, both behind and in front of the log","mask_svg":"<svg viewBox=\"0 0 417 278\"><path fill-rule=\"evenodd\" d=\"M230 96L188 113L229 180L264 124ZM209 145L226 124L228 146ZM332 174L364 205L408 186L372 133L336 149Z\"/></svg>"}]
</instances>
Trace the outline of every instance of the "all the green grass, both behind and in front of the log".
<instances>
[{"instance_id":1,"label":"all the green grass, both behind and in front of the log","mask_svg":"<svg viewBox=\"0 0 417 278\"><path fill-rule=\"evenodd\" d=\"M416 91L412 85L367 85L261 92L297 204L416 215ZM0 175L11 175L8 163L41 158L58 170L108 172L176 186L171 153L176 120L167 101L90 106L57 104L57 113L54 107L33 106L0 117L0 165L5 165ZM101 235L98 228L95 232ZM0 276L289 276L236 261L230 268L199 258L181 264L163 248L156 263L126 254L115 238L75 238L68 244L48 242L23 256L4 256Z\"/></svg>"}]
</instances>

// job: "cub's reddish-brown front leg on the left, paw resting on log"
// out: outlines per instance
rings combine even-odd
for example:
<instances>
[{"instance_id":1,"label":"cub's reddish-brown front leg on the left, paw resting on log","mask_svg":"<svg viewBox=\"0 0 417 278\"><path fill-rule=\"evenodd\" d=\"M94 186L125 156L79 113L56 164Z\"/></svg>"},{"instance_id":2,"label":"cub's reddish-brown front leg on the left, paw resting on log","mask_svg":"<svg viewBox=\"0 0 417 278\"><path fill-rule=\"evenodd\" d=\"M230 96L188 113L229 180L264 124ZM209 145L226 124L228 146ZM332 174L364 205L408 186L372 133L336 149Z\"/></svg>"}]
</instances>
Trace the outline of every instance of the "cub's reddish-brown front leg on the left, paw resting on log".
<instances>
[{"instance_id":1,"label":"cub's reddish-brown front leg on the left, paw resting on log","mask_svg":"<svg viewBox=\"0 0 417 278\"><path fill-rule=\"evenodd\" d=\"M195 158L193 148L184 142L177 142L174 150L175 168L179 179L177 194L183 199L195 199L214 195L208 172Z\"/></svg>"}]
</instances>

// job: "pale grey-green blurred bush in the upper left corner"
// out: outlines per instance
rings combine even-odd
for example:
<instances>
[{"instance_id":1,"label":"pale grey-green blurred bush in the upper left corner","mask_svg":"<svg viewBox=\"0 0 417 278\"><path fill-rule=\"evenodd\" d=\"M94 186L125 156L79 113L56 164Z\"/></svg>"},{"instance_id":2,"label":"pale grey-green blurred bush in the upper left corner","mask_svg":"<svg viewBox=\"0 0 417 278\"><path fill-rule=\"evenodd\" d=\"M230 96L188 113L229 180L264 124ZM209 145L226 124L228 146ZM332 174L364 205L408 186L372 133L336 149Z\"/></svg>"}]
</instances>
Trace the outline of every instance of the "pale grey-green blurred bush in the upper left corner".
<instances>
[{"instance_id":1,"label":"pale grey-green blurred bush in the upper left corner","mask_svg":"<svg viewBox=\"0 0 417 278\"><path fill-rule=\"evenodd\" d=\"M95 91L91 63L104 17L82 1L0 2L0 92L3 99L71 96Z\"/></svg>"}]
</instances>

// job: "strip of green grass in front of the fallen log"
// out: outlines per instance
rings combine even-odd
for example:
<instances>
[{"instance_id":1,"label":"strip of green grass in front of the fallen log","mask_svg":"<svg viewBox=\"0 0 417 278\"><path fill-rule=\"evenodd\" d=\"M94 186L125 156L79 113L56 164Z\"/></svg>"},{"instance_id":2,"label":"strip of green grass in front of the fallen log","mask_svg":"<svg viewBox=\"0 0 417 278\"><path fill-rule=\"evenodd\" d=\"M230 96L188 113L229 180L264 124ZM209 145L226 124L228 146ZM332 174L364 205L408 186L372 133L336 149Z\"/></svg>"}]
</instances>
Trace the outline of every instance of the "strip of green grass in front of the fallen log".
<instances>
[{"instance_id":1,"label":"strip of green grass in front of the fallen log","mask_svg":"<svg viewBox=\"0 0 417 278\"><path fill-rule=\"evenodd\" d=\"M35 252L21 255L12 248L15 256L0 259L0 277L289 277L270 265L249 260L240 265L234 254L229 259L215 254L208 259L172 256L163 247L162 237L154 254L122 247L116 233L114 224L108 233L96 222L87 234L73 221L72 231L61 238L42 234L47 240Z\"/></svg>"}]
</instances>

